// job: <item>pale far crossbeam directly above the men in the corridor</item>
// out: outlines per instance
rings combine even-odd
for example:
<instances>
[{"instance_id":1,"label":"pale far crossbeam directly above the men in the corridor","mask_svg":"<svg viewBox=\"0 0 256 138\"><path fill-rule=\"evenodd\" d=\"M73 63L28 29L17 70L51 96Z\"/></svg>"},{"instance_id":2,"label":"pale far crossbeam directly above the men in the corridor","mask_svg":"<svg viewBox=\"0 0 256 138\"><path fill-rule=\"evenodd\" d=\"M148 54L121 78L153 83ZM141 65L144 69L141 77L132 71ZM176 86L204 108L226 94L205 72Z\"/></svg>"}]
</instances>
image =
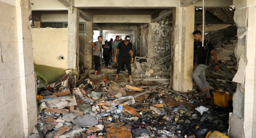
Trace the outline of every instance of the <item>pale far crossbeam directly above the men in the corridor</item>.
<instances>
[{"instance_id":1,"label":"pale far crossbeam directly above the men in the corridor","mask_svg":"<svg viewBox=\"0 0 256 138\"><path fill-rule=\"evenodd\" d=\"M93 15L93 23L150 23L150 21L150 15Z\"/></svg>"}]
</instances>

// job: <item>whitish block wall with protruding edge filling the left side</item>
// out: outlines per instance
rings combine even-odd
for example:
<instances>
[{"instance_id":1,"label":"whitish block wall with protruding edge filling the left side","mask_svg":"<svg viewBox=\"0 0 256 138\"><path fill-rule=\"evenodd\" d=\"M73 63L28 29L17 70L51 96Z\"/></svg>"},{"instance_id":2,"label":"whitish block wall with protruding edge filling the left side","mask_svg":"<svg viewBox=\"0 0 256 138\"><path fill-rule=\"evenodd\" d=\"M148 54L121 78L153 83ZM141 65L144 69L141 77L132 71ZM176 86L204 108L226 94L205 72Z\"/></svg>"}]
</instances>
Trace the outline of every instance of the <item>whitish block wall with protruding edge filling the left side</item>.
<instances>
[{"instance_id":1,"label":"whitish block wall with protruding edge filling the left side","mask_svg":"<svg viewBox=\"0 0 256 138\"><path fill-rule=\"evenodd\" d=\"M37 124L29 6L29 0L22 4L0 0L0 137L4 138L28 137Z\"/></svg>"}]
</instances>

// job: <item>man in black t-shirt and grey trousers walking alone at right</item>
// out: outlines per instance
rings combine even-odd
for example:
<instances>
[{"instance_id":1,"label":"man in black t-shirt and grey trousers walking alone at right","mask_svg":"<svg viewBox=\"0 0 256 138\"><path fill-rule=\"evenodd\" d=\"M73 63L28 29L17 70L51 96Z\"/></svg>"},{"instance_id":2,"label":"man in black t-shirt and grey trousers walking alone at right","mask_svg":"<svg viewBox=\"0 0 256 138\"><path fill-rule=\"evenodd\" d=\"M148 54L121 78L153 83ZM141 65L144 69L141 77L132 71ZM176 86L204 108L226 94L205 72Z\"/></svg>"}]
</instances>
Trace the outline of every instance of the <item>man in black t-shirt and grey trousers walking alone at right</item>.
<instances>
[{"instance_id":1,"label":"man in black t-shirt and grey trousers walking alone at right","mask_svg":"<svg viewBox=\"0 0 256 138\"><path fill-rule=\"evenodd\" d=\"M193 33L194 39L196 40L194 42L194 47L196 48L197 54L197 67L194 69L192 73L192 77L194 81L197 83L200 92L194 94L194 97L203 97L206 95L207 98L211 98L208 86L205 80L205 69L209 65L210 61L210 52L212 52L214 60L215 60L215 67L214 70L219 70L219 64L217 59L217 54L215 52L214 47L209 41L204 40L203 46L202 46L202 33L198 30L196 30Z\"/></svg>"}]
</instances>

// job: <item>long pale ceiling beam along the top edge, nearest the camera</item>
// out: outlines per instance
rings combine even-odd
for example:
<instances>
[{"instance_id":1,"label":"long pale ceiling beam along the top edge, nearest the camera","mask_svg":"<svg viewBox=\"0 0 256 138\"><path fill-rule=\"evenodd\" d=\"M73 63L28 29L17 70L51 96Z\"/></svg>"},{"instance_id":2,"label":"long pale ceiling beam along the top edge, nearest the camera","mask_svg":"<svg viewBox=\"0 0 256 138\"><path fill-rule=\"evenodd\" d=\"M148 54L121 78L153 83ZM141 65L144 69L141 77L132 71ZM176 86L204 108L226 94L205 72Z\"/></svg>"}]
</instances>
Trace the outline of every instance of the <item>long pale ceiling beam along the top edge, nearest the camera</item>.
<instances>
[{"instance_id":1,"label":"long pale ceiling beam along the top edge, nearest the camera","mask_svg":"<svg viewBox=\"0 0 256 138\"><path fill-rule=\"evenodd\" d=\"M179 7L180 0L75 0L75 7L77 8L167 8Z\"/></svg>"}]
</instances>

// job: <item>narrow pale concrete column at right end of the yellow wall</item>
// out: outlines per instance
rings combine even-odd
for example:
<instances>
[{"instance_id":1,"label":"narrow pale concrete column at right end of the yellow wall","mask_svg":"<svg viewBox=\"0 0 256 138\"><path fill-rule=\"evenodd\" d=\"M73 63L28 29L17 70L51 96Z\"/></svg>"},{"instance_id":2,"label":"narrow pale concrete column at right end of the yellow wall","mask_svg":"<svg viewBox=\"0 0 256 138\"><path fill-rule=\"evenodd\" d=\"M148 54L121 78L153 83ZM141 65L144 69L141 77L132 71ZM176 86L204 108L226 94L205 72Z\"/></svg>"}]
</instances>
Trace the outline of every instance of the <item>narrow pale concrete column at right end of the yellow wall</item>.
<instances>
[{"instance_id":1,"label":"narrow pale concrete column at right end of the yellow wall","mask_svg":"<svg viewBox=\"0 0 256 138\"><path fill-rule=\"evenodd\" d=\"M68 7L68 43L67 68L79 72L79 10L73 6Z\"/></svg>"}]
</instances>

